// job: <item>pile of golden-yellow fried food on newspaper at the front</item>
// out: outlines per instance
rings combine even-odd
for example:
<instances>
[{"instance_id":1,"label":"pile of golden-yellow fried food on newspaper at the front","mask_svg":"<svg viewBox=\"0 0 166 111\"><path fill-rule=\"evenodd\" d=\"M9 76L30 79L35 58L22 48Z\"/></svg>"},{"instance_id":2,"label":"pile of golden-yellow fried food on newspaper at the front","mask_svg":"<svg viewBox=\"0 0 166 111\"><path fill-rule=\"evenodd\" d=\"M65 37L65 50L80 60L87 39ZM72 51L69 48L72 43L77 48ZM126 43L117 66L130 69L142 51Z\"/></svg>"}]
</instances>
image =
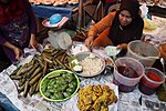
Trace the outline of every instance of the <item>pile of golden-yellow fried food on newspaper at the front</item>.
<instances>
[{"instance_id":1,"label":"pile of golden-yellow fried food on newspaper at the front","mask_svg":"<svg viewBox=\"0 0 166 111\"><path fill-rule=\"evenodd\" d=\"M117 97L108 85L89 85L79 91L80 111L108 111L108 105L115 103Z\"/></svg>"}]
</instances>

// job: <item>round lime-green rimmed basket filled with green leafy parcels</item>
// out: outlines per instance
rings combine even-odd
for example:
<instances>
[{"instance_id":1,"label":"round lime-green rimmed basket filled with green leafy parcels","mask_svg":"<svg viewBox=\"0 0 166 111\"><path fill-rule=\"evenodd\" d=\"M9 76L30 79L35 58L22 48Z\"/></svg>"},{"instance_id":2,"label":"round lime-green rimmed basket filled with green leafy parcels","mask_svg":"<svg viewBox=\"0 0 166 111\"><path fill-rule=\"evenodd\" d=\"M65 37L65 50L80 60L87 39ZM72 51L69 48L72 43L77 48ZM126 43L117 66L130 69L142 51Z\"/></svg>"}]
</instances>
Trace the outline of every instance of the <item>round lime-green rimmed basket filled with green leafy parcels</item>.
<instances>
[{"instance_id":1,"label":"round lime-green rimmed basket filled with green leafy parcels","mask_svg":"<svg viewBox=\"0 0 166 111\"><path fill-rule=\"evenodd\" d=\"M46 74L40 83L40 93L49 101L65 101L80 88L75 73L69 70L55 70Z\"/></svg>"}]
</instances>

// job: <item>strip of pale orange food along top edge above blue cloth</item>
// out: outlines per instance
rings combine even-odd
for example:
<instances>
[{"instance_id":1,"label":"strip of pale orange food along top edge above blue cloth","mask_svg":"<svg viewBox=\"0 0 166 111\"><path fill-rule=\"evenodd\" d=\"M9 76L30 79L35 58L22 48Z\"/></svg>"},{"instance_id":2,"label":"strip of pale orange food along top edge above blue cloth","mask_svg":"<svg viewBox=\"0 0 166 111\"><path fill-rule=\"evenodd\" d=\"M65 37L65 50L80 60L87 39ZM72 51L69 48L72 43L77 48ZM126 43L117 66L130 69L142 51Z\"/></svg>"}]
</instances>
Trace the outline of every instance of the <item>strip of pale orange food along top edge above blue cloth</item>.
<instances>
[{"instance_id":1,"label":"strip of pale orange food along top edge above blue cloth","mask_svg":"<svg viewBox=\"0 0 166 111\"><path fill-rule=\"evenodd\" d=\"M33 4L53 4L53 6L63 6L63 4L75 4L79 3L79 0L29 0Z\"/></svg>"}]
</instances>

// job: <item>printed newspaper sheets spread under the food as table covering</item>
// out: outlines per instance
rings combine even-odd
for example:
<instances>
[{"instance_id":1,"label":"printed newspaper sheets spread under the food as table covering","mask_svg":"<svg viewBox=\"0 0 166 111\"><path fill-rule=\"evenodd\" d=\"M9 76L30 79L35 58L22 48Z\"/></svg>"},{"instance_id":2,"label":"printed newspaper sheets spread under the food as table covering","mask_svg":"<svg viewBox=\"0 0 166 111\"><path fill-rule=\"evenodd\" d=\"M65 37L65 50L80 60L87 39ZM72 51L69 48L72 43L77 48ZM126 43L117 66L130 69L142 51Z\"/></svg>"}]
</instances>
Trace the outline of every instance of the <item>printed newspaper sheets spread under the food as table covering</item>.
<instances>
[{"instance_id":1,"label":"printed newspaper sheets spread under the food as table covering","mask_svg":"<svg viewBox=\"0 0 166 111\"><path fill-rule=\"evenodd\" d=\"M79 111L75 109L77 103L76 94L64 102L45 101L40 94L34 94L27 98L18 94L14 82L9 78L9 74L14 69L15 65L12 64L0 73L0 91L6 94L21 111ZM92 81L112 83L113 74L105 72L93 78L80 78L80 80L83 83L90 83ZM133 92L129 93L120 92L118 101L115 103L114 111L154 111L156 109L158 111L165 111L165 108L166 102L159 101L156 94L144 95L136 88Z\"/></svg>"}]
</instances>

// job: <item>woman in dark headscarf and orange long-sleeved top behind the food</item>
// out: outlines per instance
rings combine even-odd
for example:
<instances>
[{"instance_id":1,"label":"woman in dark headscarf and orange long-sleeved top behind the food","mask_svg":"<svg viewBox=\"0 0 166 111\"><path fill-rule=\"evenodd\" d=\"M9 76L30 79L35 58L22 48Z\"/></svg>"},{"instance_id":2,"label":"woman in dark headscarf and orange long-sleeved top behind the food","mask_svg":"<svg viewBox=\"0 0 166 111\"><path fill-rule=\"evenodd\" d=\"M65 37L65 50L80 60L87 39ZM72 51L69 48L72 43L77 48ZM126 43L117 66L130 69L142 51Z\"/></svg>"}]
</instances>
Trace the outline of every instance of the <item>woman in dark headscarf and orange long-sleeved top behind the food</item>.
<instances>
[{"instance_id":1,"label":"woman in dark headscarf and orange long-sleeved top behind the food","mask_svg":"<svg viewBox=\"0 0 166 111\"><path fill-rule=\"evenodd\" d=\"M85 46L126 49L128 42L139 40L143 33L144 22L138 11L137 0L122 0L118 11L110 12L89 30Z\"/></svg>"}]
</instances>

